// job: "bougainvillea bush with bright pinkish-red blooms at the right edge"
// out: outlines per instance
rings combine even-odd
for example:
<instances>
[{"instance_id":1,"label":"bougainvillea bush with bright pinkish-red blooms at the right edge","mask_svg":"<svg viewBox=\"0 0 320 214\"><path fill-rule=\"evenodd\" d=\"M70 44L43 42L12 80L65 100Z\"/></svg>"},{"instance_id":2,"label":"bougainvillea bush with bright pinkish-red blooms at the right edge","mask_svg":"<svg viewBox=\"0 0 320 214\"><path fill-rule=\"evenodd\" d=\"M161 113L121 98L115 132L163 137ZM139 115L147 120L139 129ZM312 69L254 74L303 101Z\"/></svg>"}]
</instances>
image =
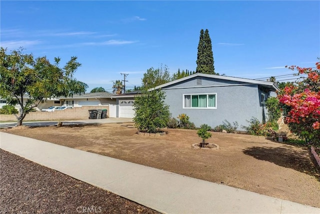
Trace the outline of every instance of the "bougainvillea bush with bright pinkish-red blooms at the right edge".
<instances>
[{"instance_id":1,"label":"bougainvillea bush with bright pinkish-red blooms at the right edge","mask_svg":"<svg viewBox=\"0 0 320 214\"><path fill-rule=\"evenodd\" d=\"M278 98L290 130L306 142L320 146L320 61L315 65L289 66L306 77L278 91Z\"/></svg>"}]
</instances>

